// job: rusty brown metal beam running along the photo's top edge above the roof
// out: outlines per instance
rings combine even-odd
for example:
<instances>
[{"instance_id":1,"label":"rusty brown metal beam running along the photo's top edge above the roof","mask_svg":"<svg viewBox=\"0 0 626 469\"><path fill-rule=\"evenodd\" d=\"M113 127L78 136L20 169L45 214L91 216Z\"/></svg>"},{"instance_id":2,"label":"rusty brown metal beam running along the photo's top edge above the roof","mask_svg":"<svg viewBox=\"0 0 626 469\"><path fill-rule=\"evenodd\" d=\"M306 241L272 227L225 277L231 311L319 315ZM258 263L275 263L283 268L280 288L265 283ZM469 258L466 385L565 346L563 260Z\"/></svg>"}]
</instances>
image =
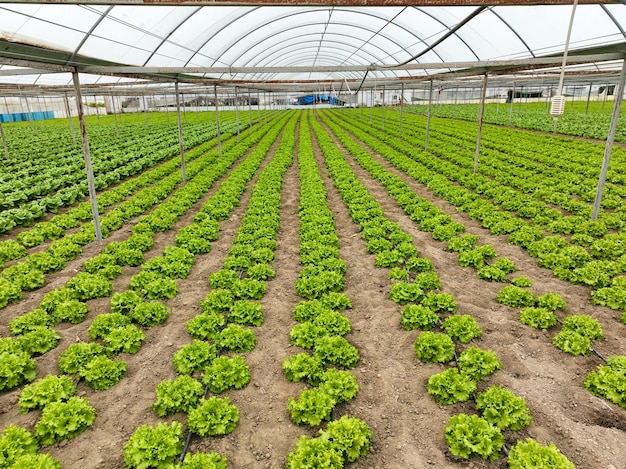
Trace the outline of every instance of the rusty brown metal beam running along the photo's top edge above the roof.
<instances>
[{"instance_id":1,"label":"rusty brown metal beam running along the photo's top edge above the roof","mask_svg":"<svg viewBox=\"0 0 626 469\"><path fill-rule=\"evenodd\" d=\"M170 6L483 6L482 0L11 0L11 3ZM491 0L489 5L571 5L571 0ZM579 0L580 4L609 4L614 0Z\"/></svg>"}]
</instances>

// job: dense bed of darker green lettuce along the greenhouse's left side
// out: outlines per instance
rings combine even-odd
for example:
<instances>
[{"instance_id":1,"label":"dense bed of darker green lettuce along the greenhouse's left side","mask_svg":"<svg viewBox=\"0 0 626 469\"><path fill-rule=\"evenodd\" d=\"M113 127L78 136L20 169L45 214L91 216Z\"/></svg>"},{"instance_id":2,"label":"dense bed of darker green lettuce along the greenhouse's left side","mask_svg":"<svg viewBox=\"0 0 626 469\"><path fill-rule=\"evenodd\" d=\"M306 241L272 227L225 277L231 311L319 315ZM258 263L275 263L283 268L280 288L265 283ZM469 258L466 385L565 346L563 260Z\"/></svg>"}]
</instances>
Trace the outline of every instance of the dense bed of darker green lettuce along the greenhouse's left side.
<instances>
[{"instance_id":1,"label":"dense bed of darker green lettuce along the greenhouse's left side","mask_svg":"<svg viewBox=\"0 0 626 469\"><path fill-rule=\"evenodd\" d=\"M229 122L226 128L233 126L234 123ZM214 123L195 123L185 127L187 148L215 137ZM167 132L162 126L146 129L129 123L117 139L109 135L110 128L108 133L98 138L100 132L96 129L98 127L94 127L94 138L90 139L96 190L124 181L178 152L178 134L173 127ZM55 132L58 128L52 126L45 133L50 136ZM115 141L116 145L111 146L111 141ZM56 213L87 196L81 147L68 148L63 142L57 143L55 148L50 140L42 138L38 144L33 143L25 154L12 152L11 158L0 161L0 234L14 227L30 226L47 214Z\"/></svg>"}]
</instances>

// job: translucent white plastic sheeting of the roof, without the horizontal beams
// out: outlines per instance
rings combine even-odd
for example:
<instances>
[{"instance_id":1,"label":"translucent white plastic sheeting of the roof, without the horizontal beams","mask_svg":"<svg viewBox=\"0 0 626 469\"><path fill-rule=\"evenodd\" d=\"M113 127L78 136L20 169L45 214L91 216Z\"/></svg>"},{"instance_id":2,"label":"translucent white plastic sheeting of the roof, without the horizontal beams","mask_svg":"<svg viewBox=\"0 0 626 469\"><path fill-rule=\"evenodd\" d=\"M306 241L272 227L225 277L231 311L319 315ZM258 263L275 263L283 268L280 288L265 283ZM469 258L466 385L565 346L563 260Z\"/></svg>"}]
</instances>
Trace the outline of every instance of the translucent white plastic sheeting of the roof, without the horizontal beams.
<instances>
[{"instance_id":1,"label":"translucent white plastic sheeting of the roof, without the horizontal beams","mask_svg":"<svg viewBox=\"0 0 626 469\"><path fill-rule=\"evenodd\" d=\"M396 64L435 43L476 7L241 7L0 3L0 38L146 67ZM418 62L561 54L569 5L492 6ZM626 5L579 5L571 49L624 42ZM0 70L12 69L8 65ZM423 76L378 70L369 78ZM239 80L360 79L363 72L250 73ZM209 78L229 75L205 74ZM81 75L81 83L133 82ZM71 83L67 73L0 76L0 84Z\"/></svg>"}]
</instances>

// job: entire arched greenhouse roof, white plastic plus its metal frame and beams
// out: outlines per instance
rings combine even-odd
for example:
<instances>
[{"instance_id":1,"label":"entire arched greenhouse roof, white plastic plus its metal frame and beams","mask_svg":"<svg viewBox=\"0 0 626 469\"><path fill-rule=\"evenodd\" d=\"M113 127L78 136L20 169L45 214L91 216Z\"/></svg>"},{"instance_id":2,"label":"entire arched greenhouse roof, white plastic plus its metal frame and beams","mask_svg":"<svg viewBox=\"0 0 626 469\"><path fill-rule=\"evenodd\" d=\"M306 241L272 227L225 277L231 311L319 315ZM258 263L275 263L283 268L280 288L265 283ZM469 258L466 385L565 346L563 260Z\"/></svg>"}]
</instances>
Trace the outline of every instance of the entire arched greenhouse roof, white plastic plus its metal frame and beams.
<instances>
[{"instance_id":1,"label":"entire arched greenhouse roof, white plastic plus its metal frame and beams","mask_svg":"<svg viewBox=\"0 0 626 469\"><path fill-rule=\"evenodd\" d=\"M554 73L572 12L558 0L125 3L0 2L0 86L68 86L74 69L93 85L259 87ZM619 71L626 4L580 3L568 64L587 75Z\"/></svg>"}]
</instances>

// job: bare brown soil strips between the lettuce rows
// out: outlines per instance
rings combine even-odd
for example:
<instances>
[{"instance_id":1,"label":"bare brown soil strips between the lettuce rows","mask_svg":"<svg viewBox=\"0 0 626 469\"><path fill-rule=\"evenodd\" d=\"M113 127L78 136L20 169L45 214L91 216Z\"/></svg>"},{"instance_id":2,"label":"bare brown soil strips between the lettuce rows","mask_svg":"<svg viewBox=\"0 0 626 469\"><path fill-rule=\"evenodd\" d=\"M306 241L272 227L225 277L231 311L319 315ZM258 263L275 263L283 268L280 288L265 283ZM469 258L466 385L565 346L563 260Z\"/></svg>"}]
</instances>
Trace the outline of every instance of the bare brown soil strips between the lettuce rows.
<instances>
[{"instance_id":1,"label":"bare brown soil strips between the lettuce rows","mask_svg":"<svg viewBox=\"0 0 626 469\"><path fill-rule=\"evenodd\" d=\"M338 142L336 144L342 148ZM272 151L275 148L276 145ZM388 298L391 285L388 270L374 266L374 257L367 254L358 227L351 221L339 193L328 178L319 147L314 145L314 150L328 191L327 200L335 216L340 257L348 266L344 293L352 300L353 308L345 314L353 332L346 338L358 348L361 356L352 370L358 379L359 394L352 401L339 405L335 417L344 414L358 417L374 434L369 454L346 467L507 467L504 456L498 461L467 461L449 453L443 437L448 419L461 412L477 413L475 405L470 401L442 406L426 392L428 378L450 365L424 364L416 358L413 343L419 332L407 332L400 326L401 306ZM516 275L525 275L532 280L533 293L560 293L567 302L568 314L584 313L597 318L606 336L598 348L605 356L626 354L624 325L619 322L619 314L592 306L588 288L554 278L550 271L538 267L536 260L524 250L507 244L505 237L491 236L479 223L456 213L454 207L435 197L426 187L395 170L378 155L374 157L407 182L418 195L465 224L469 233L479 236L480 243L491 244L500 256L513 260L519 269ZM536 331L521 324L518 309L495 301L502 284L480 280L475 270L460 267L457 254L445 250L446 243L434 241L430 233L421 232L378 182L349 156L348 161L387 217L413 236L421 256L432 260L442 290L454 295L458 312L472 315L482 327L482 337L471 345L493 350L503 363L502 370L479 382L478 390L501 385L526 399L533 423L522 431L505 432L507 447L532 437L544 444L554 442L579 469L626 469L626 410L594 397L583 387L587 373L602 364L600 359L565 354L551 344L556 332ZM192 221L194 213L216 192L219 182L179 220L175 229L157 235L155 246L146 258L160 254L165 246L174 243L176 229ZM95 423L74 439L41 450L61 461L64 468L121 469L124 467L123 446L140 425L173 420L185 424L183 413L165 419L157 417L151 408L155 400L154 390L162 380L176 376L173 354L191 342L185 322L200 311L200 301L209 291L207 279L221 268L226 258L254 182L248 185L240 206L230 219L221 224L220 237L213 243L212 251L196 256L191 274L178 281L178 296L165 302L170 308L169 319L162 325L145 329L147 338L137 354L120 356L128 365L126 377L107 391L93 391L79 383L79 395L87 397L96 409ZM287 381L281 369L286 357L302 351L289 343L289 331L295 324L292 311L301 301L294 288L300 269L297 158L285 174L281 202L282 225L273 266L277 275L268 282L267 292L261 300L265 321L254 329L256 348L245 354L252 380L242 390L224 393L239 408L240 421L230 435L191 439L190 452L217 451L228 459L229 468L283 468L298 437L315 436L322 428L297 426L291 422L287 411L289 398L296 397L306 385ZM107 242L125 238L131 227L131 224L124 226ZM88 246L79 258L68 263L64 271L49 276L44 288L26 294L21 302L2 310L0 335L8 336L7 324L12 318L37 307L46 292L63 286L80 270L85 260L102 248L95 243ZM114 281L114 291L126 289L130 277L137 271L138 268L124 268L123 274ZM56 349L37 358L38 377L57 374L59 355L71 343L89 340L87 328L94 317L108 312L109 299L90 301L89 308L83 323L57 327L63 338ZM464 347L460 346L458 350ZM39 411L19 413L17 400L21 389L0 394L0 429L15 423L32 430L37 422Z\"/></svg>"}]
</instances>

